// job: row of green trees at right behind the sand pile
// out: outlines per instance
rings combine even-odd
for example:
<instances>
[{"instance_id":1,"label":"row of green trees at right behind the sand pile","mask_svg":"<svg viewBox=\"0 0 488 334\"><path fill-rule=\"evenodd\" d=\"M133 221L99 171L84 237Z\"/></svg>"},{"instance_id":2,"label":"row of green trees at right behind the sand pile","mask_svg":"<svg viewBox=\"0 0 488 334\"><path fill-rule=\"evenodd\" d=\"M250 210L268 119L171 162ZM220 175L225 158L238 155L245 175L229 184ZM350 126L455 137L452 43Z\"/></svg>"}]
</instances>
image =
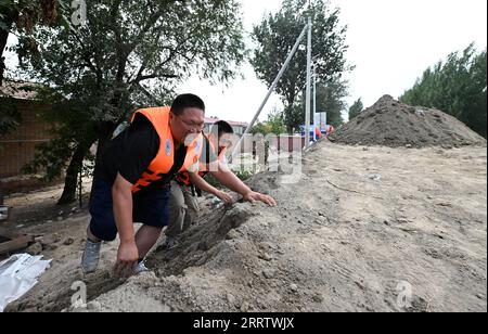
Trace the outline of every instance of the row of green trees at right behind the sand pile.
<instances>
[{"instance_id":1,"label":"row of green trees at right behind the sand pile","mask_svg":"<svg viewBox=\"0 0 488 334\"><path fill-rule=\"evenodd\" d=\"M441 110L486 138L486 62L472 43L427 68L400 101Z\"/></svg>"}]
</instances>

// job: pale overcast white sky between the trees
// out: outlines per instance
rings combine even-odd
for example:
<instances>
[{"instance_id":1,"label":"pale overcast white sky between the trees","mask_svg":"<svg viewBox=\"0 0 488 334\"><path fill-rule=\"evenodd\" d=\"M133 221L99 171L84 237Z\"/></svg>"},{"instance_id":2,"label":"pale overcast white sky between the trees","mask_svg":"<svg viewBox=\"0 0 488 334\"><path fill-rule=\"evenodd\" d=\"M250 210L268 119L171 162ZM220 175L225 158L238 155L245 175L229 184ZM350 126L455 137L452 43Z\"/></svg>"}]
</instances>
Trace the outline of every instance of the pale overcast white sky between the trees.
<instances>
[{"instance_id":1,"label":"pale overcast white sky between the trees","mask_svg":"<svg viewBox=\"0 0 488 334\"><path fill-rule=\"evenodd\" d=\"M281 0L241 1L247 31L281 4ZM349 104L358 98L364 106L383 94L398 98L424 69L472 41L478 51L486 49L486 0L332 0L332 5L341 9L342 24L348 26L346 56L356 66L349 75ZM9 63L13 64L11 57ZM229 88L191 79L178 92L201 95L209 116L249 121L267 87L257 80L251 65L243 67L243 74L244 80L236 79ZM273 95L260 119L280 105Z\"/></svg>"}]
</instances>

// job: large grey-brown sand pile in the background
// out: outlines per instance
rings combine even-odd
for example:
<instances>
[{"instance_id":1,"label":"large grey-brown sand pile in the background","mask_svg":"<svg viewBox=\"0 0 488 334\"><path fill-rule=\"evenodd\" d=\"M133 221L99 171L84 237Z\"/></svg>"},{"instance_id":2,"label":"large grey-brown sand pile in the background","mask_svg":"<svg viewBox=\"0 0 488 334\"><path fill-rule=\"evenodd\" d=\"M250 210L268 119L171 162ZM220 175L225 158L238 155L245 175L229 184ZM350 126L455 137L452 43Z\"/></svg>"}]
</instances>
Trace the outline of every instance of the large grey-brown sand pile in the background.
<instances>
[{"instance_id":1,"label":"large grey-brown sand pile in the background","mask_svg":"<svg viewBox=\"0 0 488 334\"><path fill-rule=\"evenodd\" d=\"M389 95L343 126L330 140L390 147L486 145L483 137L457 118L437 110L403 104Z\"/></svg>"}]
</instances>

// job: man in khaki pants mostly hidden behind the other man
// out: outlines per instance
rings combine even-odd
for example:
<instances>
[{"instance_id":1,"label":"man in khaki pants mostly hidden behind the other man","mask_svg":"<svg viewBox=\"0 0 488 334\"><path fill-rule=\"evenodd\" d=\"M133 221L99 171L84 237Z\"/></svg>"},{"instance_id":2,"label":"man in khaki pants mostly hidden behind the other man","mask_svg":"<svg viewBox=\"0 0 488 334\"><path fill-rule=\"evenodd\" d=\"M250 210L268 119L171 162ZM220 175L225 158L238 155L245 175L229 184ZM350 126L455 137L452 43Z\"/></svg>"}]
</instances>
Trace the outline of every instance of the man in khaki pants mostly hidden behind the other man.
<instances>
[{"instance_id":1,"label":"man in khaki pants mostly hidden behind the other man","mask_svg":"<svg viewBox=\"0 0 488 334\"><path fill-rule=\"evenodd\" d=\"M213 134L217 134L217 140L214 140ZM229 194L219 191L204 180L208 174L211 174L226 188L241 194L244 201L261 201L270 206L277 205L271 196L252 191L228 168L226 152L230 149L229 137L231 134L233 134L233 129L227 121L219 120L214 124L209 134L204 136L201 162L205 163L201 163L198 172L182 171L171 181L169 223L165 232L165 242L159 249L176 247L176 237L198 218L196 196L198 190L214 194L224 203L232 203Z\"/></svg>"}]
</instances>

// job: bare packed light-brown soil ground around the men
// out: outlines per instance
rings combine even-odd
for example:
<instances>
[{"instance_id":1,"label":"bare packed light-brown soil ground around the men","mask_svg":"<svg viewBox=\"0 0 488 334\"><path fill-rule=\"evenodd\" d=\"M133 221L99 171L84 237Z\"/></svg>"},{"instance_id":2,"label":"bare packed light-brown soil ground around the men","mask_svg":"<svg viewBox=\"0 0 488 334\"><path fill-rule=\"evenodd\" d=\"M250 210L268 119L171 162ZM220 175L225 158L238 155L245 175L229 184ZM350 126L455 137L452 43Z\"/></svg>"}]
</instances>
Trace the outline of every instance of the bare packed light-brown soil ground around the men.
<instances>
[{"instance_id":1,"label":"bare packed light-brown soil ground around the men","mask_svg":"<svg viewBox=\"0 0 488 334\"><path fill-rule=\"evenodd\" d=\"M94 274L81 274L86 208L4 223L42 235L41 254L53 259L7 310L74 310L72 284L84 282L89 303L78 311L487 311L485 147L322 141L300 172L295 183L282 183L283 171L248 181L277 207L203 202L178 246L153 252L151 272L127 281L112 275L118 241L103 245ZM31 196L40 193L7 202L22 213L39 207Z\"/></svg>"}]
</instances>

